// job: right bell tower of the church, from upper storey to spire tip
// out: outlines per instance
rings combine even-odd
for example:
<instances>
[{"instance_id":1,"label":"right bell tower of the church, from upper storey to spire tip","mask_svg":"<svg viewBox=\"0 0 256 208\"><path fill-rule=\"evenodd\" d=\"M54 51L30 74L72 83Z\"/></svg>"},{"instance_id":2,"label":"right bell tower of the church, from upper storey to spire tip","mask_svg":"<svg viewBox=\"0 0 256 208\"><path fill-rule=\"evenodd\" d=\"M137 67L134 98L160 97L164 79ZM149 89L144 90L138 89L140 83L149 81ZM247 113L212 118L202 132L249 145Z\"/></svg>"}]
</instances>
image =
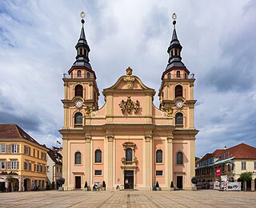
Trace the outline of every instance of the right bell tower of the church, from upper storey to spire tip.
<instances>
[{"instance_id":1,"label":"right bell tower of the church, from upper storey to spire tip","mask_svg":"<svg viewBox=\"0 0 256 208\"><path fill-rule=\"evenodd\" d=\"M178 41L176 33L176 18L173 18L173 35L170 46L166 70L162 73L162 84L158 96L160 108L172 116L173 125L176 128L194 129L194 74L190 73L182 63L182 45Z\"/></svg>"}]
</instances>

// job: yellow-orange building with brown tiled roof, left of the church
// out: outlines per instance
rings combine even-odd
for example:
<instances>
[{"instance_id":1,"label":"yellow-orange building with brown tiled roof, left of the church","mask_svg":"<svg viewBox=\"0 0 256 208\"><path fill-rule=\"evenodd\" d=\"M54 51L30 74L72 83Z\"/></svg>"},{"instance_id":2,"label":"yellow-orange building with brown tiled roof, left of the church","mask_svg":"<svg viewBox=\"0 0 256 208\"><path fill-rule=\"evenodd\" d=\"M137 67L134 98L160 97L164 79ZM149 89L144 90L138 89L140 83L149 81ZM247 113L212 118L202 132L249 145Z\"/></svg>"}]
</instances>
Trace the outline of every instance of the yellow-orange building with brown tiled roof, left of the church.
<instances>
[{"instance_id":1,"label":"yellow-orange building with brown tiled roof, left of the church","mask_svg":"<svg viewBox=\"0 0 256 208\"><path fill-rule=\"evenodd\" d=\"M39 144L16 124L0 124L0 186L10 190L46 189L46 154Z\"/></svg>"}]
</instances>

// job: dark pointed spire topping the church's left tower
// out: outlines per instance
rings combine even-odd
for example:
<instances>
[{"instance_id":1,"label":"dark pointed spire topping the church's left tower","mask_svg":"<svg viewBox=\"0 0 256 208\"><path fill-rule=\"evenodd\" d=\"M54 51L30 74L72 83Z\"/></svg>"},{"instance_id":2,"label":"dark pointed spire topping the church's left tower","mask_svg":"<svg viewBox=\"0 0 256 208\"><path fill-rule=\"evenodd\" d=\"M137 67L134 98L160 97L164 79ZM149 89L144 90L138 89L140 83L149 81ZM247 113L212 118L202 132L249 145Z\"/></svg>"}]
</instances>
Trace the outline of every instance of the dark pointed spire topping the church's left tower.
<instances>
[{"instance_id":1,"label":"dark pointed spire topping the church's left tower","mask_svg":"<svg viewBox=\"0 0 256 208\"><path fill-rule=\"evenodd\" d=\"M84 29L84 18L85 18L85 13L82 12L81 13L81 22L82 22L82 29L81 29L81 33L80 33L80 37L78 40L77 45L75 45L75 49L77 49L77 57L76 61L74 62L74 66L86 66L86 68L91 69L90 66L90 60L89 60L89 52L90 52L90 47L87 44L86 41L86 33L85 33L85 29Z\"/></svg>"}]
</instances>

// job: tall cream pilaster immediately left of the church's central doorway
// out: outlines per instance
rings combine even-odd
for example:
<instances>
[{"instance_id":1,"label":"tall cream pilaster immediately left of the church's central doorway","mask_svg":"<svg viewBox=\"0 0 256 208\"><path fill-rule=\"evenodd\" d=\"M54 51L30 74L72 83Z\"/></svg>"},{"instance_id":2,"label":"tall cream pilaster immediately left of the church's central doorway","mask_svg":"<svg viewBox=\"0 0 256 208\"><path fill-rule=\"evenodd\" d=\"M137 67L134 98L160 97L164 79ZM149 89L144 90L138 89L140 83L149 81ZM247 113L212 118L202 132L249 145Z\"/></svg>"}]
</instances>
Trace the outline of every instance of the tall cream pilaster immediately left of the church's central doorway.
<instances>
[{"instance_id":1,"label":"tall cream pilaster immediately left of the church's central doorway","mask_svg":"<svg viewBox=\"0 0 256 208\"><path fill-rule=\"evenodd\" d=\"M114 135L107 135L106 190L114 190Z\"/></svg>"}]
</instances>

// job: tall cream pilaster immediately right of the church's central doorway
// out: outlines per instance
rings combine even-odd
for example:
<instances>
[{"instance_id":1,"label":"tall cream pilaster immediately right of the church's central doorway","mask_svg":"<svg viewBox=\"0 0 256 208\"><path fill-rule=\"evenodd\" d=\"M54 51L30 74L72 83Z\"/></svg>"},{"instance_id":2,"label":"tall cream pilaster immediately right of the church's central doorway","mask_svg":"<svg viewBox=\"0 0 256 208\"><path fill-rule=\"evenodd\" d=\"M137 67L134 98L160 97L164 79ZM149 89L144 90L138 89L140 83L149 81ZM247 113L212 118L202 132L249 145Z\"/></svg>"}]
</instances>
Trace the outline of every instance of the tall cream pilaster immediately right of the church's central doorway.
<instances>
[{"instance_id":1,"label":"tall cream pilaster immediately right of the church's central doorway","mask_svg":"<svg viewBox=\"0 0 256 208\"><path fill-rule=\"evenodd\" d=\"M151 190L152 187L152 136L151 135L145 135L145 172L146 175L145 177L145 185L146 185L146 190Z\"/></svg>"}]
</instances>

